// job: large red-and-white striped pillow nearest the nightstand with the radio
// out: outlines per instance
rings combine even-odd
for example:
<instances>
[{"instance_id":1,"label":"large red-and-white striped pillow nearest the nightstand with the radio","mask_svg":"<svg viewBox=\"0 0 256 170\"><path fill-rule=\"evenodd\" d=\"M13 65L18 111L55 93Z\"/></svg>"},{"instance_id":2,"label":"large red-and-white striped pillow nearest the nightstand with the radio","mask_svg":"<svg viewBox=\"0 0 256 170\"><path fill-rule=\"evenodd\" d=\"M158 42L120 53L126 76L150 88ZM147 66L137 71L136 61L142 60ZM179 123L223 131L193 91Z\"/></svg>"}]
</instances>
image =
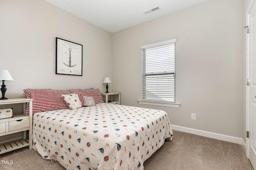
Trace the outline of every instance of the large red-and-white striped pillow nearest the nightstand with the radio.
<instances>
[{"instance_id":1,"label":"large red-and-white striped pillow nearest the nightstand with the radio","mask_svg":"<svg viewBox=\"0 0 256 170\"><path fill-rule=\"evenodd\" d=\"M69 90L24 89L23 91L26 97L33 99L32 113L68 108L61 95L70 94ZM29 107L27 105L25 115L28 114Z\"/></svg>"}]
</instances>

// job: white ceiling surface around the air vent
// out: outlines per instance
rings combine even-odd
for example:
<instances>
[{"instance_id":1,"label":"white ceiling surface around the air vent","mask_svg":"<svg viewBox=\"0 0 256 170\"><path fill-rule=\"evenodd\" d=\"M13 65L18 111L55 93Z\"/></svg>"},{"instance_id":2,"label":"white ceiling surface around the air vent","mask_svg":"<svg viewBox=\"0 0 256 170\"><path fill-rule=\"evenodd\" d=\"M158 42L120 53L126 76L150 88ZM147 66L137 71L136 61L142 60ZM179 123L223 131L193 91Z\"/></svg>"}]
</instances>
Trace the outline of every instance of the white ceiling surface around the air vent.
<instances>
[{"instance_id":1,"label":"white ceiling surface around the air vent","mask_svg":"<svg viewBox=\"0 0 256 170\"><path fill-rule=\"evenodd\" d=\"M207 0L46 0L108 32L153 20ZM159 10L144 14L144 11Z\"/></svg>"}]
</instances>

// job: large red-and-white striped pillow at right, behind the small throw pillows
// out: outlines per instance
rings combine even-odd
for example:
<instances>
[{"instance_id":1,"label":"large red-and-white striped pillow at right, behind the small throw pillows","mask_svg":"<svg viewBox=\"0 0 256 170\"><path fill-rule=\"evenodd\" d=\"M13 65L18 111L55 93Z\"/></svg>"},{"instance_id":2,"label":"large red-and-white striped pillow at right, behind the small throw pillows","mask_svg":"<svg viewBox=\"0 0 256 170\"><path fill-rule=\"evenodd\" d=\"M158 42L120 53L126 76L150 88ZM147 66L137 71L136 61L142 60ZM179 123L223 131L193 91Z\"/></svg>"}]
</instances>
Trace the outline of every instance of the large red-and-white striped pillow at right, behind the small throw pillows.
<instances>
[{"instance_id":1,"label":"large red-and-white striped pillow at right, behind the small throw pillows","mask_svg":"<svg viewBox=\"0 0 256 170\"><path fill-rule=\"evenodd\" d=\"M91 96L94 99L95 104L104 103L102 99L102 95L100 93L100 89L70 89L71 93L76 93L80 97L81 95L84 96ZM82 97L80 97L81 100ZM83 101L81 100L82 105L84 106Z\"/></svg>"}]
</instances>

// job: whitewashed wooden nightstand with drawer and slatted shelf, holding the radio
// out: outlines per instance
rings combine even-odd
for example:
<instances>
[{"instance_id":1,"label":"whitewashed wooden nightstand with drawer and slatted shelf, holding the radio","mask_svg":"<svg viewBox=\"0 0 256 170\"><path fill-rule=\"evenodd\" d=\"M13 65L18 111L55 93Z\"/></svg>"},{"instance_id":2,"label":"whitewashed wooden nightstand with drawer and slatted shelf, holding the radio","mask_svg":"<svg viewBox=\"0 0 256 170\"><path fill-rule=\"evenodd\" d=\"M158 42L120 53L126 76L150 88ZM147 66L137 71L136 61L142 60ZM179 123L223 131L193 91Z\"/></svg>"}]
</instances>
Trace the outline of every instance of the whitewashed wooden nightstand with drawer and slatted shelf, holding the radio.
<instances>
[{"instance_id":1,"label":"whitewashed wooden nightstand with drawer and slatted shelf, holding the radio","mask_svg":"<svg viewBox=\"0 0 256 170\"><path fill-rule=\"evenodd\" d=\"M32 148L32 100L33 99L30 98L0 100L0 105L5 105L5 108L8 108L9 104L23 103L24 111L21 114L13 113L13 117L11 118L0 119L0 137L17 132L23 132L23 138L0 143L0 154L26 146L29 146L29 149ZM25 115L27 103L29 103L30 106L28 116ZM27 139L27 130L29 139Z\"/></svg>"}]
</instances>

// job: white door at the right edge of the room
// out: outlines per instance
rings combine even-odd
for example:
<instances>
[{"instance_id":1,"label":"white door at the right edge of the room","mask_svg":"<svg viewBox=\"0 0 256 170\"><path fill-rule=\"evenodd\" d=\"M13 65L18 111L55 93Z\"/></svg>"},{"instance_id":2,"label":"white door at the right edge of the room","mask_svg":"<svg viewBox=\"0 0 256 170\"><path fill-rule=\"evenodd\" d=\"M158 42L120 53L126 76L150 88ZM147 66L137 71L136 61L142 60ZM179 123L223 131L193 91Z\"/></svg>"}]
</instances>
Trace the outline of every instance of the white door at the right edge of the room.
<instances>
[{"instance_id":1,"label":"white door at the right edge of the room","mask_svg":"<svg viewBox=\"0 0 256 170\"><path fill-rule=\"evenodd\" d=\"M255 26L254 26L255 24ZM246 87L246 128L249 138L246 138L246 156L256 169L256 0L251 0L247 10L247 78Z\"/></svg>"}]
</instances>

